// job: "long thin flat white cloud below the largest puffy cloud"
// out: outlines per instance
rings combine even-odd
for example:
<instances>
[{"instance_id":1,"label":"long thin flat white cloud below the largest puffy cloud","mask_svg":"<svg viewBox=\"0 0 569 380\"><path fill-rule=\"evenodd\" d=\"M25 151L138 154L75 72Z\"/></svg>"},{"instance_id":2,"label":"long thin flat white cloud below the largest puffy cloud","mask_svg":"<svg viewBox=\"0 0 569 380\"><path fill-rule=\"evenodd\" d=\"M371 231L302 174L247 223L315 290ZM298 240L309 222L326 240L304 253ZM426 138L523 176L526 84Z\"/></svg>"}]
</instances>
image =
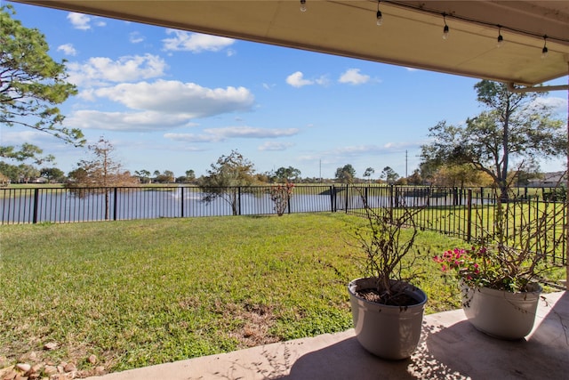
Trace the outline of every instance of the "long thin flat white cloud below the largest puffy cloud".
<instances>
[{"instance_id":1,"label":"long thin flat white cloud below the largest puffy cloud","mask_svg":"<svg viewBox=\"0 0 569 380\"><path fill-rule=\"evenodd\" d=\"M228 126L225 128L206 128L204 133L165 133L164 137L185 142L219 142L231 138L268 139L293 136L299 133L296 128L266 129L252 126Z\"/></svg>"}]
</instances>

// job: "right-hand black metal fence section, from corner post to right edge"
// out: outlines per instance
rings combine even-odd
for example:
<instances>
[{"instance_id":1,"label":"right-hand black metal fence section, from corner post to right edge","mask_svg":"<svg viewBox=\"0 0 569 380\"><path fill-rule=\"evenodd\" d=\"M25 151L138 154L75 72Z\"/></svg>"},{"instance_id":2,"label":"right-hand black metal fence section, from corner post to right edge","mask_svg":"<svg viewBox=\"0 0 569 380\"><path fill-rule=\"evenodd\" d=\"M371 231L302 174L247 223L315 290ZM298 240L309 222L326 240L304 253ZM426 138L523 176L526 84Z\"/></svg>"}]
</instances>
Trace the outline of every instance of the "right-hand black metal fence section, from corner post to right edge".
<instances>
[{"instance_id":1,"label":"right-hand black metal fence section, from corner post to right edge","mask_svg":"<svg viewBox=\"0 0 569 380\"><path fill-rule=\"evenodd\" d=\"M496 191L487 188L352 186L347 190L350 214L365 214L365 205L388 208L396 215L405 207L413 209L413 222L422 230L471 242L495 236L501 228L509 246L531 246L551 263L566 263L567 208L561 191L520 188L499 202ZM496 220L498 206L503 222Z\"/></svg>"}]
</instances>

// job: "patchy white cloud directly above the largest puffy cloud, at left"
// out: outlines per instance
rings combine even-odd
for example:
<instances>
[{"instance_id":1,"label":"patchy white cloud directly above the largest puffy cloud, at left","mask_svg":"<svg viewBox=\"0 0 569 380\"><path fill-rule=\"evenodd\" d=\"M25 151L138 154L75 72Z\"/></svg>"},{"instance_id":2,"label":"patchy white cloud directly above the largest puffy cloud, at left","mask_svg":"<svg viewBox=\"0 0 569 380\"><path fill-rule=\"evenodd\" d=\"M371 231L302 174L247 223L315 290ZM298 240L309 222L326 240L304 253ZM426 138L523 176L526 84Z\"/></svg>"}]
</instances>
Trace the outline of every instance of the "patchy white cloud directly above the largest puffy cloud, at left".
<instances>
[{"instance_id":1,"label":"patchy white cloud directly above the largest puffy cloud, at left","mask_svg":"<svg viewBox=\"0 0 569 380\"><path fill-rule=\"evenodd\" d=\"M92 57L86 63L68 63L69 82L76 85L104 85L106 82L132 82L162 77L166 62L157 55L125 56L113 61Z\"/></svg>"}]
</instances>

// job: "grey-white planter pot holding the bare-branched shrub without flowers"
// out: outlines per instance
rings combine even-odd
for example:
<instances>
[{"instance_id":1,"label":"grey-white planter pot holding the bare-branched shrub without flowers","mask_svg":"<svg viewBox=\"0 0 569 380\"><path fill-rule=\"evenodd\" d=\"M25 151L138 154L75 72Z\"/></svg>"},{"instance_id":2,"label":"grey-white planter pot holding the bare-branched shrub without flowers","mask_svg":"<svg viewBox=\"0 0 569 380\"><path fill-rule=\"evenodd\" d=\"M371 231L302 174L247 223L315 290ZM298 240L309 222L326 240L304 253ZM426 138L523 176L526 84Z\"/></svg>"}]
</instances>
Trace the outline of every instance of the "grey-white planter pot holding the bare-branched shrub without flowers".
<instances>
[{"instance_id":1,"label":"grey-white planter pot holding the bare-branched shrub without flowers","mask_svg":"<svg viewBox=\"0 0 569 380\"><path fill-rule=\"evenodd\" d=\"M348 285L357 341L383 359L409 358L421 338L427 295L417 287L410 287L408 295L417 303L405 307L373 303L356 295L358 290L373 288L374 284L373 278L366 278L355 279Z\"/></svg>"}]
</instances>

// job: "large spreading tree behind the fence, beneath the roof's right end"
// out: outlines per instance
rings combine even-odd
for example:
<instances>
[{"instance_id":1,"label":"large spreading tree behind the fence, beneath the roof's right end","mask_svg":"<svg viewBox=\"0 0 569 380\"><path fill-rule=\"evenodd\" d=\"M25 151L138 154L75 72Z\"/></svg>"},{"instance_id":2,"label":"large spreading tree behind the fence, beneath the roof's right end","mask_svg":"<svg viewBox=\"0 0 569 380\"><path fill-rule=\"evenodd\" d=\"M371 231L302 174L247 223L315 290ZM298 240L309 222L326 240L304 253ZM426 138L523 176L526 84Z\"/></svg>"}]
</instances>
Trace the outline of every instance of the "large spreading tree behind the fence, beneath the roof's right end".
<instances>
[{"instance_id":1,"label":"large spreading tree behind the fence, beneath the roof's right end","mask_svg":"<svg viewBox=\"0 0 569 380\"><path fill-rule=\"evenodd\" d=\"M425 166L471 165L485 172L507 198L512 162L517 168L534 166L537 158L566 152L564 121L551 107L537 101L537 93L510 93L507 85L483 80L475 85L485 110L465 125L445 121L429 128L432 139L421 147Z\"/></svg>"}]
</instances>

